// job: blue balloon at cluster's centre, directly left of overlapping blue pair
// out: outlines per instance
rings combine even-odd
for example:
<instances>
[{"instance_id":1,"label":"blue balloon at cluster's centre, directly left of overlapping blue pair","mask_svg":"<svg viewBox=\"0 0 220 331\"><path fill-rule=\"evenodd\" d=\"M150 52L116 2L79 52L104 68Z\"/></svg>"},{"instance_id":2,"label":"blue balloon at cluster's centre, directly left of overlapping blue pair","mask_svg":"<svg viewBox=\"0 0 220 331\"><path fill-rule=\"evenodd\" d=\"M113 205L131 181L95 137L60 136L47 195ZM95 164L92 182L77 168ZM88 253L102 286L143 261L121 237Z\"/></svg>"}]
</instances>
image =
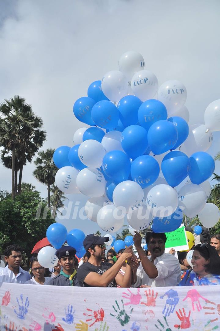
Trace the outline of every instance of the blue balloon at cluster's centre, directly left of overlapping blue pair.
<instances>
[{"instance_id":1,"label":"blue balloon at cluster's centre, directly left of overlapping blue pair","mask_svg":"<svg viewBox=\"0 0 220 331\"><path fill-rule=\"evenodd\" d=\"M139 125L130 125L122 132L121 145L133 160L142 155L149 147L147 131Z\"/></svg>"}]
</instances>

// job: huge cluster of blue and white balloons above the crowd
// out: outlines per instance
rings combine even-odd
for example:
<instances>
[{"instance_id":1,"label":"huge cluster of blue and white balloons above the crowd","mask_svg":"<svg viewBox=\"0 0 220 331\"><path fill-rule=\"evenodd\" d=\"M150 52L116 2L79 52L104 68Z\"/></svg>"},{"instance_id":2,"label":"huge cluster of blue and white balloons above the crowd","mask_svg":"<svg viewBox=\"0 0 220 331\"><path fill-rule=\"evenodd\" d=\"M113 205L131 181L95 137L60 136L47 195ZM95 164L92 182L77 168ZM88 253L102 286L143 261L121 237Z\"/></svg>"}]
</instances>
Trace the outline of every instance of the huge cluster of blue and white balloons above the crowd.
<instances>
[{"instance_id":1,"label":"huge cluster of blue and white balloons above the crowd","mask_svg":"<svg viewBox=\"0 0 220 331\"><path fill-rule=\"evenodd\" d=\"M152 222L155 232L174 231L183 212L213 226L206 198L215 163L206 151L211 131L220 130L220 100L207 107L205 124L189 128L182 82L168 80L158 88L138 52L123 54L118 67L75 102L74 115L90 127L74 133L72 148L56 149L57 187L86 195L88 218L108 233L118 231L125 217L137 230ZM187 176L189 183L177 192Z\"/></svg>"}]
</instances>

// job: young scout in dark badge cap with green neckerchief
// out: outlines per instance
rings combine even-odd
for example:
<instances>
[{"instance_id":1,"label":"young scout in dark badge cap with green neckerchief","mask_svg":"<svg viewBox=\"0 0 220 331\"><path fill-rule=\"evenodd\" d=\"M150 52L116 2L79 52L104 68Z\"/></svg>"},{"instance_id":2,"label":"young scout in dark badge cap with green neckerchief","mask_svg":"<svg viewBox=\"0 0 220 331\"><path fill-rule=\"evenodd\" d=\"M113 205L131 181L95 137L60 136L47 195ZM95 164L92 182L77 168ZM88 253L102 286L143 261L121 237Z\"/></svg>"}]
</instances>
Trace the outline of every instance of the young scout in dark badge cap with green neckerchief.
<instances>
[{"instance_id":1,"label":"young scout in dark badge cap with green neckerchief","mask_svg":"<svg viewBox=\"0 0 220 331\"><path fill-rule=\"evenodd\" d=\"M47 285L80 286L77 271L74 268L76 250L71 246L63 246L56 251L59 264L63 267L60 274L53 277Z\"/></svg>"}]
</instances>

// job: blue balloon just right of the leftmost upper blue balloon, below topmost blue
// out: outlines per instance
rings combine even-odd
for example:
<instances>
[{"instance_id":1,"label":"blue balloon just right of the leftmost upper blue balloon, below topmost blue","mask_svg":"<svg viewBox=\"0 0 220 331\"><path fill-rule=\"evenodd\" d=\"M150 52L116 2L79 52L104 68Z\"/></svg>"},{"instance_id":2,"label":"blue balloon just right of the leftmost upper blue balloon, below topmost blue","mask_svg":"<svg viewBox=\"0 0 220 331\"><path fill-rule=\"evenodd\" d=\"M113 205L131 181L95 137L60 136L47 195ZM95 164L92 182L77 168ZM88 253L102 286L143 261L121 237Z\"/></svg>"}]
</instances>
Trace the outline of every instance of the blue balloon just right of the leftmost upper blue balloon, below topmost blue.
<instances>
[{"instance_id":1,"label":"blue balloon just right of the leftmost upper blue balloon, below topmost blue","mask_svg":"<svg viewBox=\"0 0 220 331\"><path fill-rule=\"evenodd\" d=\"M92 107L92 120L96 125L105 129L114 129L119 120L117 107L107 100L97 102Z\"/></svg>"}]
</instances>

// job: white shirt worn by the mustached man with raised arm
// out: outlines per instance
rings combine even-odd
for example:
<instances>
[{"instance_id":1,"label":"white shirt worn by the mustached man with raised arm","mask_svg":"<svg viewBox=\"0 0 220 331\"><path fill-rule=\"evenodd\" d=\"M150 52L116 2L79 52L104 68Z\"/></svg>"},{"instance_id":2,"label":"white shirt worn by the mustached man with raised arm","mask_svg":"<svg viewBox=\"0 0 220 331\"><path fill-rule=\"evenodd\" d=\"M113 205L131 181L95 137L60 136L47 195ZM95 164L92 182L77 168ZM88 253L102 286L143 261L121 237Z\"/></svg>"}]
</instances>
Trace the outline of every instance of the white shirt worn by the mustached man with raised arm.
<instances>
[{"instance_id":1,"label":"white shirt worn by the mustached man with raised arm","mask_svg":"<svg viewBox=\"0 0 220 331\"><path fill-rule=\"evenodd\" d=\"M148 259L152 261L151 256ZM163 253L154 260L154 265L157 268L158 276L156 278L149 278L141 266L137 270L137 282L133 287L139 287L140 285L162 287L177 286L179 284L181 275L180 263L172 254Z\"/></svg>"}]
</instances>

